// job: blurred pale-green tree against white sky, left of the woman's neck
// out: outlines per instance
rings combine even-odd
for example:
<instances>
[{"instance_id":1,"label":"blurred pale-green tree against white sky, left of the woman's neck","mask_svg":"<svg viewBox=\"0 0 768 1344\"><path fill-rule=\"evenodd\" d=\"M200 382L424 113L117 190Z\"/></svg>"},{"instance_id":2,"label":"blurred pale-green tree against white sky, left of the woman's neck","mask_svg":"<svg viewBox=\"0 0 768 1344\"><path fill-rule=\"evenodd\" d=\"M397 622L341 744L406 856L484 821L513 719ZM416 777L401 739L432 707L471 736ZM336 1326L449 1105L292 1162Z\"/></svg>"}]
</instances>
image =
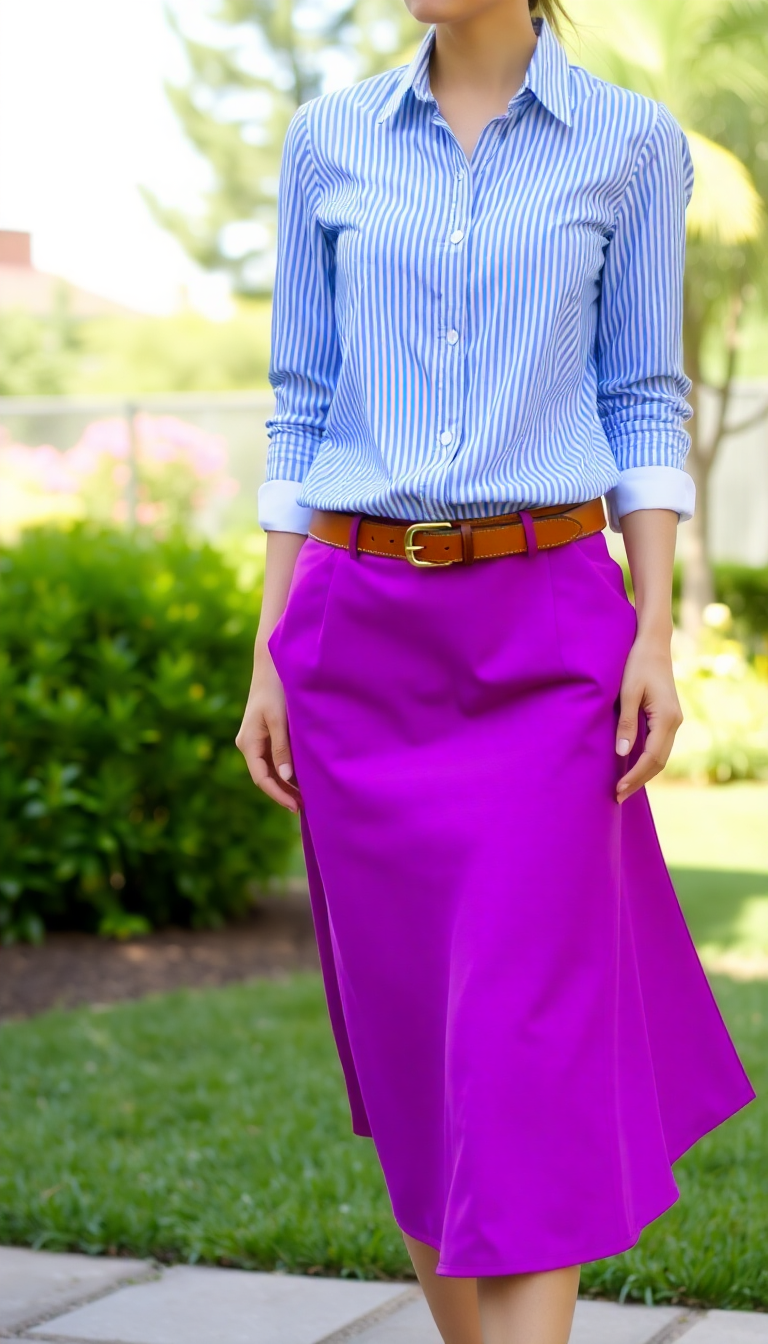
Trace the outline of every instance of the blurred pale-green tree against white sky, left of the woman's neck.
<instances>
[{"instance_id":1,"label":"blurred pale-green tree against white sky, left of the woman's neck","mask_svg":"<svg viewBox=\"0 0 768 1344\"><path fill-rule=\"evenodd\" d=\"M202 42L168 20L184 47L190 78L167 85L182 126L208 167L210 188L188 218L144 191L155 218L207 270L225 270L243 294L268 294L277 179L296 108L321 91L323 66L340 54L358 77L377 74L421 35L393 0L348 0L340 9L292 0L217 0L217 38Z\"/></svg>"}]
</instances>

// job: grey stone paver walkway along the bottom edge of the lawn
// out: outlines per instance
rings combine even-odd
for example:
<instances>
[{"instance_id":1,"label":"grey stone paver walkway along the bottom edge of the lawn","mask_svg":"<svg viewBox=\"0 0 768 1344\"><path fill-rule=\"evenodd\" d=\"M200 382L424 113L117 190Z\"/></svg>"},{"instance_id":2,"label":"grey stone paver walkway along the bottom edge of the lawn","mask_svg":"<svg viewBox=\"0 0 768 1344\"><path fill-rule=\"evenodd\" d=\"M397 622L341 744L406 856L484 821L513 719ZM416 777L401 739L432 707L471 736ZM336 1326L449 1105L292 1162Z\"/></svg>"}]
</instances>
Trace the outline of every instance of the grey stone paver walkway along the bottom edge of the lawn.
<instances>
[{"instance_id":1,"label":"grey stone paver walkway along the bottom edge of the lawn","mask_svg":"<svg viewBox=\"0 0 768 1344\"><path fill-rule=\"evenodd\" d=\"M410 1284L0 1247L4 1344L440 1344ZM768 1313L578 1302L570 1344L768 1344Z\"/></svg>"}]
</instances>

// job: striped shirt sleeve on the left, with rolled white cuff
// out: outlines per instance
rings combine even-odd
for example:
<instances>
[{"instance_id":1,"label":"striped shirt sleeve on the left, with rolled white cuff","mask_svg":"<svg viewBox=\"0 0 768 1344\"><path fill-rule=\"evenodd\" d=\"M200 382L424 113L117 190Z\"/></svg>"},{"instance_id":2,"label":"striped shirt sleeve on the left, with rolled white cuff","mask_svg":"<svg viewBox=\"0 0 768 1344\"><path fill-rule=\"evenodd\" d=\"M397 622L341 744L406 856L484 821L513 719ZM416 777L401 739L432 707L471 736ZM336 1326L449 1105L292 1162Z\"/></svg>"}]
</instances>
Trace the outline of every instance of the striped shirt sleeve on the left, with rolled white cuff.
<instances>
[{"instance_id":1,"label":"striped shirt sleeve on the left, with rolled white cuff","mask_svg":"<svg viewBox=\"0 0 768 1344\"><path fill-rule=\"evenodd\" d=\"M272 301L266 421L266 480L258 520L266 531L307 532L311 509L297 503L323 437L338 375L334 251L317 223L319 190L307 106L288 124L277 191L277 266Z\"/></svg>"}]
</instances>

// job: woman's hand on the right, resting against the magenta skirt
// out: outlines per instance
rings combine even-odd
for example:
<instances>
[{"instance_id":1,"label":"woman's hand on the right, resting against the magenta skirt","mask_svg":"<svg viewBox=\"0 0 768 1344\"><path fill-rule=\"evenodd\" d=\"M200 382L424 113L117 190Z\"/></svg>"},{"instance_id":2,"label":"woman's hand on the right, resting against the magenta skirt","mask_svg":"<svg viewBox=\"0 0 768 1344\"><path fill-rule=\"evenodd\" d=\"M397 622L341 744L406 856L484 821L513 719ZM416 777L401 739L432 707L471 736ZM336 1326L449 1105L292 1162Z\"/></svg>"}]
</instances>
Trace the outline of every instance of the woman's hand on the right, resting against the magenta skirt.
<instances>
[{"instance_id":1,"label":"woman's hand on the right, resting against the magenta skirt","mask_svg":"<svg viewBox=\"0 0 768 1344\"><path fill-rule=\"evenodd\" d=\"M629 650L621 679L621 711L616 731L619 755L628 755L635 745L640 708L646 711L648 732L640 758L619 780L619 802L624 802L664 769L675 732L683 722L673 676L670 641L648 637L642 632Z\"/></svg>"}]
</instances>

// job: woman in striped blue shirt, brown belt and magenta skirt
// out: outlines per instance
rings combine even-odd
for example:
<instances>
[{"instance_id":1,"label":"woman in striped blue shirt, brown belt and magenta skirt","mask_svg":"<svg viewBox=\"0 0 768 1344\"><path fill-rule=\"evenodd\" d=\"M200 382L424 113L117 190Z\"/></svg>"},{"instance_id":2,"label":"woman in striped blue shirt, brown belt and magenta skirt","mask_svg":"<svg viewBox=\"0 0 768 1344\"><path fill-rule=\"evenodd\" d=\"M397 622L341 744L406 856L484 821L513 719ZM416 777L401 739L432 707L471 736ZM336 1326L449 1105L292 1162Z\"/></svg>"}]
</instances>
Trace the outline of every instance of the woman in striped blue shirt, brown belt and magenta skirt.
<instances>
[{"instance_id":1,"label":"woman in striped blue shirt, brown belt and magenta skirt","mask_svg":"<svg viewBox=\"0 0 768 1344\"><path fill-rule=\"evenodd\" d=\"M443 1339L565 1344L578 1266L755 1095L643 788L681 723L693 171L555 0L409 8L408 66L288 126L237 742L300 809L352 1128Z\"/></svg>"}]
</instances>

